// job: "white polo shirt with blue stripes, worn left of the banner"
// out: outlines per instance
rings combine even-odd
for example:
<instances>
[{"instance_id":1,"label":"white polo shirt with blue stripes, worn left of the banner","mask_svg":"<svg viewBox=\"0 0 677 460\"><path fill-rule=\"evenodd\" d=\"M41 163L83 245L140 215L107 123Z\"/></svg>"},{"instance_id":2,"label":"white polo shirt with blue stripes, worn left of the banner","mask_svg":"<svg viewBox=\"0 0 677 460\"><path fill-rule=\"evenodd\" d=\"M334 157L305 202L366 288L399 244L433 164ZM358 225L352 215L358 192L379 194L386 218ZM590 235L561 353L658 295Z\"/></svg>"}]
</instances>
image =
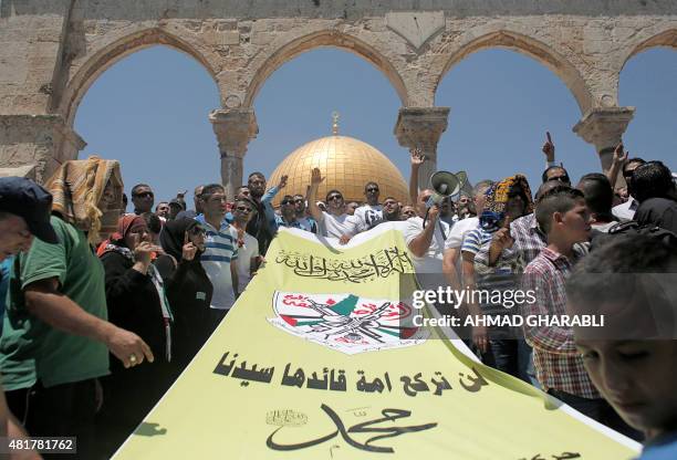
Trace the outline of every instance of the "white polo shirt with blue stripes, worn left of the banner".
<instances>
[{"instance_id":1,"label":"white polo shirt with blue stripes, worn left of the banner","mask_svg":"<svg viewBox=\"0 0 677 460\"><path fill-rule=\"evenodd\" d=\"M199 215L195 220L207 230L205 252L200 257L200 262L213 286L210 306L228 310L236 301L230 262L238 259L237 239L232 237L230 224L226 220L221 222L219 229L207 222L204 215Z\"/></svg>"}]
</instances>

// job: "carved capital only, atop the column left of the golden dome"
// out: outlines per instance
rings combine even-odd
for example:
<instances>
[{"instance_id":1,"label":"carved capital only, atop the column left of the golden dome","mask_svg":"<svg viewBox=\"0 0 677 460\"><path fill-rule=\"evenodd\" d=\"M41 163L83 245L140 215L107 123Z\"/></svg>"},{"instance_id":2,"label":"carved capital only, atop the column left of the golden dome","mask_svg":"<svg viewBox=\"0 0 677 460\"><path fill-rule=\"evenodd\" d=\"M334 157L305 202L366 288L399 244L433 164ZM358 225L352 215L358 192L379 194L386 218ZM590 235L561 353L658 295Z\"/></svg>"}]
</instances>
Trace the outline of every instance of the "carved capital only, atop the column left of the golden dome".
<instances>
[{"instance_id":1,"label":"carved capital only, atop the column left of the golden dome","mask_svg":"<svg viewBox=\"0 0 677 460\"><path fill-rule=\"evenodd\" d=\"M259 134L253 108L229 108L211 111L209 121L223 157L244 157L249 142Z\"/></svg>"}]
</instances>

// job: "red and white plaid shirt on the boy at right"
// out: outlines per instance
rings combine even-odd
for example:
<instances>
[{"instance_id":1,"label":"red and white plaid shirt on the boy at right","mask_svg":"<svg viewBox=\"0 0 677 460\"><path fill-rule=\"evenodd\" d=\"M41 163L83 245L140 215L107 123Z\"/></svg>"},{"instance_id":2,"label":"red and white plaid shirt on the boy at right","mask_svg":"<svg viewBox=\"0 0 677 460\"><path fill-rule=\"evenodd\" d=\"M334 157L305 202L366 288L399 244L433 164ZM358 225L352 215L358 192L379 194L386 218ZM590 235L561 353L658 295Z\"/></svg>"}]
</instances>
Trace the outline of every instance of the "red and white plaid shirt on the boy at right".
<instances>
[{"instance_id":1,"label":"red and white plaid shirt on the boy at right","mask_svg":"<svg viewBox=\"0 0 677 460\"><path fill-rule=\"evenodd\" d=\"M572 262L550 248L543 248L541 253L527 265L522 289L535 291L537 301L533 304L528 302L522 304L525 318L528 315L566 314L564 283L571 270ZM601 397L585 372L583 358L576 352L572 328L529 327L524 322L524 335L533 347L537 377L545 389L553 388L587 399Z\"/></svg>"}]
</instances>

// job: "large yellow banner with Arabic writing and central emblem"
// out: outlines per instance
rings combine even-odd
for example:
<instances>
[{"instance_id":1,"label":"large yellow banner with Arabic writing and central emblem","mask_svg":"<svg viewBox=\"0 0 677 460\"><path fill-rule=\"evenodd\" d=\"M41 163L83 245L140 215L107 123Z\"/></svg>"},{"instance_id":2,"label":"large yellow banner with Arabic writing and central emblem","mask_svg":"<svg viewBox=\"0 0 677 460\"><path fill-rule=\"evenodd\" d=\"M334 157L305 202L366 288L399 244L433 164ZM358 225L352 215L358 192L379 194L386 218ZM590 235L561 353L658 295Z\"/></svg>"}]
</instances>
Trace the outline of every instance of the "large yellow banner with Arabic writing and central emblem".
<instances>
[{"instance_id":1,"label":"large yellow banner with Arabic writing and central emblem","mask_svg":"<svg viewBox=\"0 0 677 460\"><path fill-rule=\"evenodd\" d=\"M638 445L486 367L414 310L402 233L281 231L198 356L114 457L631 459ZM406 283L406 286L400 286Z\"/></svg>"}]
</instances>

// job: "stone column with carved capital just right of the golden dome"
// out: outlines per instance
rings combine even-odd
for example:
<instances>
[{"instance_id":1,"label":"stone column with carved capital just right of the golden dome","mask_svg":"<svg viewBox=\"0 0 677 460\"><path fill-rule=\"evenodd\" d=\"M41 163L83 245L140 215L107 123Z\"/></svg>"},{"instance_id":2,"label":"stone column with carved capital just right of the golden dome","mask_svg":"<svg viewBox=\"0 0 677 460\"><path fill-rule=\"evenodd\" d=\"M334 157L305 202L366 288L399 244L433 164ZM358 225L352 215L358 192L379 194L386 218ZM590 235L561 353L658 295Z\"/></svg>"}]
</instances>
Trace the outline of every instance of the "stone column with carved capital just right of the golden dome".
<instances>
[{"instance_id":1,"label":"stone column with carved capital just right of the golden dome","mask_svg":"<svg viewBox=\"0 0 677 460\"><path fill-rule=\"evenodd\" d=\"M447 129L449 107L404 107L395 124L395 136L400 146L420 148L427 158L418 169L418 188L427 188L437 170L437 143Z\"/></svg>"}]
</instances>

